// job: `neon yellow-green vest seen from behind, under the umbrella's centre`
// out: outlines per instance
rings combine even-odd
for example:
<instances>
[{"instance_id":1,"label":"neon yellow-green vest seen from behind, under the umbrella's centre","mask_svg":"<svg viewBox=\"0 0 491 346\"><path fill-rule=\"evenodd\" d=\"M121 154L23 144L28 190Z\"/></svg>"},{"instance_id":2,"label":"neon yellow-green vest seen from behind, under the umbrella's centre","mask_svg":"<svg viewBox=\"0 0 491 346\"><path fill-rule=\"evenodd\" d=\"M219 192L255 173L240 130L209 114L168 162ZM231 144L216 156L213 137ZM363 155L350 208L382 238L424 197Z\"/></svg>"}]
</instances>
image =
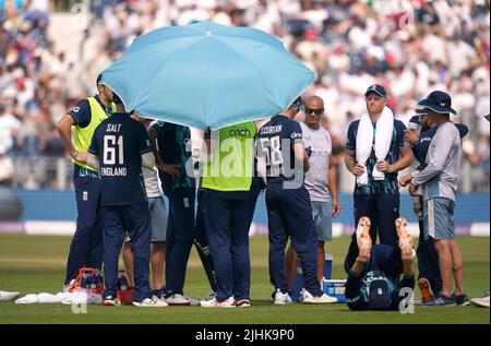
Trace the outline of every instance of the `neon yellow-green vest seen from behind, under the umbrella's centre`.
<instances>
[{"instance_id":1,"label":"neon yellow-green vest seen from behind, under the umbrella's centre","mask_svg":"<svg viewBox=\"0 0 491 346\"><path fill-rule=\"evenodd\" d=\"M202 187L217 191L249 191L254 163L255 124L248 121L218 130L212 162Z\"/></svg>"}]
</instances>

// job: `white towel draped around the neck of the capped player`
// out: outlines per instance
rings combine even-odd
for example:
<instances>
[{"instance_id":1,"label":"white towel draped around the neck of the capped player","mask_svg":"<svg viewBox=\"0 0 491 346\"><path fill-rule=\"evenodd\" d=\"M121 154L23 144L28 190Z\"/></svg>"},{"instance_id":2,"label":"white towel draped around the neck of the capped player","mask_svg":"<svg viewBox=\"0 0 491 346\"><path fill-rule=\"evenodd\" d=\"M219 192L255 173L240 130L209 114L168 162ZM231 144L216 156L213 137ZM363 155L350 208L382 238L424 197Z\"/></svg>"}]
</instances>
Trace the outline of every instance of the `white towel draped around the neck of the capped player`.
<instances>
[{"instance_id":1,"label":"white towel draped around the neck of the capped player","mask_svg":"<svg viewBox=\"0 0 491 346\"><path fill-rule=\"evenodd\" d=\"M376 162L385 159L391 150L392 133L394 129L394 114L391 108L384 107L382 115L376 121L375 126L375 157ZM364 114L360 118L357 132L357 163L364 165L372 152L373 143L373 126L370 116ZM372 177L375 180L384 180L385 174L373 167ZM366 186L368 183L367 169L361 176L357 177L358 186Z\"/></svg>"}]
</instances>

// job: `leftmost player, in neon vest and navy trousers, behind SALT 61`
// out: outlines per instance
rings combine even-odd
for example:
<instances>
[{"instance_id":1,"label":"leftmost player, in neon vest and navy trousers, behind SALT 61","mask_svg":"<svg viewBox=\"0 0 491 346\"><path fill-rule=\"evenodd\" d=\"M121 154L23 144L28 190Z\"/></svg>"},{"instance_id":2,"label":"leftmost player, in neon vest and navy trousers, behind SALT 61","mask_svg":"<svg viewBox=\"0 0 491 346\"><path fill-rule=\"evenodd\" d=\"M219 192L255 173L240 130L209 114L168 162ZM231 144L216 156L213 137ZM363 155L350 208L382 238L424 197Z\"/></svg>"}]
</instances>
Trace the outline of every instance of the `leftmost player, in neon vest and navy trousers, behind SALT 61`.
<instances>
[{"instance_id":1,"label":"leftmost player, in neon vest and navy trousers, behind SALT 61","mask_svg":"<svg viewBox=\"0 0 491 346\"><path fill-rule=\"evenodd\" d=\"M77 103L58 122L58 132L74 164L76 230L70 244L64 289L84 266L100 271L103 265L103 217L100 213L100 175L87 165L87 150L97 126L115 110L112 91L97 76L98 94ZM72 127L74 128L72 143Z\"/></svg>"}]
</instances>

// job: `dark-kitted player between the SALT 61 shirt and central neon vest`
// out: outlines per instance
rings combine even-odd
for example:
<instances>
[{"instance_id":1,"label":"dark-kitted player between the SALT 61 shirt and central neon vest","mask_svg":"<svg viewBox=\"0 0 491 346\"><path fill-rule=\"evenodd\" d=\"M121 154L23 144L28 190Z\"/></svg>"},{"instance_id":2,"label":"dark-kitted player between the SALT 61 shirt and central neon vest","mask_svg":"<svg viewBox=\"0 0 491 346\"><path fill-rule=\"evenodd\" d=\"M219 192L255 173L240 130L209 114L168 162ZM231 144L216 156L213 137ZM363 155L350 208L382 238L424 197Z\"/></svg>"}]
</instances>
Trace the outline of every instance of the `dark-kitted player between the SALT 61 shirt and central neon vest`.
<instances>
[{"instance_id":1,"label":"dark-kitted player between the SALT 61 shirt and central neon vest","mask_svg":"<svg viewBox=\"0 0 491 346\"><path fill-rule=\"evenodd\" d=\"M156 142L156 162L164 193L169 199L166 238L166 285L161 298L172 306L197 303L184 296L185 271L195 238L191 132L188 127L157 121L148 129Z\"/></svg>"}]
</instances>

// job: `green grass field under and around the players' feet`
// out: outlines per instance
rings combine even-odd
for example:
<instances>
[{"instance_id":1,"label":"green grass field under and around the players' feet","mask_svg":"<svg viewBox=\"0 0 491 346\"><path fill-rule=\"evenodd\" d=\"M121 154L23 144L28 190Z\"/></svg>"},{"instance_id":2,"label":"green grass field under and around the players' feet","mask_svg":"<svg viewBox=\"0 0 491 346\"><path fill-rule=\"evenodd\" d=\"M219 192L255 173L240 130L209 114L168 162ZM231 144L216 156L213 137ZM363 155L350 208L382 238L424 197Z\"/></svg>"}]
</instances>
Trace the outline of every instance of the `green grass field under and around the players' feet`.
<instances>
[{"instance_id":1,"label":"green grass field under and around the players' feet","mask_svg":"<svg viewBox=\"0 0 491 346\"><path fill-rule=\"evenodd\" d=\"M334 254L333 278L345 278L342 269L348 238L327 243ZM64 276L69 237L0 236L0 289L29 293L58 293ZM459 238L465 261L465 283L469 297L478 297L489 288L490 239ZM0 303L0 323L490 323L490 310L476 307L422 308L415 313L351 312L346 305L278 307L271 301L273 290L267 272L267 238L251 238L253 306L248 309L204 309L169 307L137 309L131 306L107 308L88 306L87 313L74 314L63 305ZM416 264L415 264L416 266ZM185 282L185 294L195 298L209 290L204 272L193 249ZM419 291L417 291L419 295Z\"/></svg>"}]
</instances>

